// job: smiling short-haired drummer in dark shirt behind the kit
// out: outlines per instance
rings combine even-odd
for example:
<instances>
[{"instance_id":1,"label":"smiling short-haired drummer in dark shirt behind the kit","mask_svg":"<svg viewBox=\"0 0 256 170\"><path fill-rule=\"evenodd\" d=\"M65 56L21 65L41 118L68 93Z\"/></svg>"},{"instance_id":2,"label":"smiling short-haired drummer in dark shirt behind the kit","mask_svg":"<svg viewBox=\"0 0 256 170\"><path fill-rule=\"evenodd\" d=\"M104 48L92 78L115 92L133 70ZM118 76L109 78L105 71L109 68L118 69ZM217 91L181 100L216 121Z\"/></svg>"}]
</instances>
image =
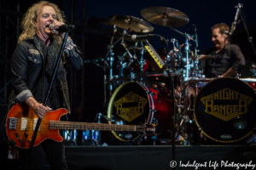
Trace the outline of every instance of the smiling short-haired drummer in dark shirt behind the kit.
<instances>
[{"instance_id":1,"label":"smiling short-haired drummer in dark shirt behind the kit","mask_svg":"<svg viewBox=\"0 0 256 170\"><path fill-rule=\"evenodd\" d=\"M212 60L201 61L199 69L207 78L236 77L238 71L245 65L241 49L229 42L230 27L224 23L212 26L212 42L214 47L207 50L207 55L214 56Z\"/></svg>"}]
</instances>

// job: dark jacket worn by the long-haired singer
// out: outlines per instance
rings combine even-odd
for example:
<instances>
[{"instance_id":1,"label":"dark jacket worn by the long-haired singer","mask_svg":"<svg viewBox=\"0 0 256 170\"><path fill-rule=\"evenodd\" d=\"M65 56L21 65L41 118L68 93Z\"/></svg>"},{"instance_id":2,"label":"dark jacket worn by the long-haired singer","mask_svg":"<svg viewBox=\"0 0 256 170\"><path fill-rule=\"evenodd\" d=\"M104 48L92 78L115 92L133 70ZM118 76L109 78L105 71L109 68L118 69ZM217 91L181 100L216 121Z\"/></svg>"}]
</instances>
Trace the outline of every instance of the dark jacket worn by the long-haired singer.
<instances>
[{"instance_id":1,"label":"dark jacket worn by the long-haired singer","mask_svg":"<svg viewBox=\"0 0 256 170\"><path fill-rule=\"evenodd\" d=\"M61 62L66 70L79 70L82 67L83 60L80 54L77 48L64 51L66 62L64 64L62 59ZM39 103L43 103L44 86L47 85L44 83L45 78L42 78L45 76L45 70L45 56L37 36L20 42L15 48L11 61L12 86L15 94L11 98L15 97L19 102L23 102L24 99L33 96ZM64 85L66 84L67 80ZM67 94L62 88L61 91ZM66 106L62 107L66 108Z\"/></svg>"}]
</instances>

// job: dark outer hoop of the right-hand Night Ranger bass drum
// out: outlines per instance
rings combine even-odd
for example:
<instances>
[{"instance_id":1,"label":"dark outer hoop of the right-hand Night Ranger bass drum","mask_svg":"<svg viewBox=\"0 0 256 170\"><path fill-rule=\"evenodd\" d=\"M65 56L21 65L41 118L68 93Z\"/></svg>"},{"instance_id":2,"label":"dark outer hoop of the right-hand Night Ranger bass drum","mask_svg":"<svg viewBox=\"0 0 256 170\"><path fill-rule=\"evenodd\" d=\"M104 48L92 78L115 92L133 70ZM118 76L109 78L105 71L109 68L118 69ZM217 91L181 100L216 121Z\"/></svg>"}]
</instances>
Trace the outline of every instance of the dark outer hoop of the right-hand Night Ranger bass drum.
<instances>
[{"instance_id":1,"label":"dark outer hoop of the right-hand Night Ranger bass drum","mask_svg":"<svg viewBox=\"0 0 256 170\"><path fill-rule=\"evenodd\" d=\"M236 78L236 77L216 77L216 78L214 78L212 81L208 82L203 88L201 88L201 91L202 91L204 88L206 88L209 83L218 81L218 80L220 80L220 79L236 79L236 80L238 80L238 81L241 81L239 78ZM241 82L244 82L244 81L241 81ZM250 86L247 82L244 82L244 83L247 84L247 86L249 86L250 88L252 88L252 86ZM253 89L253 88L252 88L252 89ZM246 134L244 137L242 137L241 139L229 140L229 141L214 139L214 138L212 138L211 136L209 136L207 133L205 133L205 132L202 130L202 128L201 128L201 126L199 125L199 123L197 122L196 116L195 116L195 103L196 103L196 101L197 101L197 99L198 99L199 94L201 94L201 91L200 91L200 92L198 93L198 95L195 97L194 113L193 113L193 116L194 116L194 118L195 118L196 126L201 129L201 133L203 133L204 135L206 135L209 139L212 139L212 140L214 140L214 141L216 141L216 142L222 142L222 143L232 143L232 142L236 142L236 141L238 141L238 140L245 139L249 134L253 133L253 129L252 129L249 133L247 133L247 134ZM253 91L255 92L254 89L253 89ZM254 127L255 127L255 126L256 126L256 124L254 125Z\"/></svg>"}]
</instances>

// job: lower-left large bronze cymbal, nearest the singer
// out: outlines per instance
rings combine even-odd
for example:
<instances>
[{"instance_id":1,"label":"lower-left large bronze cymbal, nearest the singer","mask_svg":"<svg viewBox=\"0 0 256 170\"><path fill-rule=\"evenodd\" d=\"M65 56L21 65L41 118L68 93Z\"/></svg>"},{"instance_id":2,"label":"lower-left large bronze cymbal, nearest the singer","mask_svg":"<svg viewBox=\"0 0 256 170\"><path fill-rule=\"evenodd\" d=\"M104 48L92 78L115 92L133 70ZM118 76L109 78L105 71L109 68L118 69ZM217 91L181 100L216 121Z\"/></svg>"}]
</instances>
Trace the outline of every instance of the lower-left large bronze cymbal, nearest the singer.
<instances>
[{"instance_id":1,"label":"lower-left large bronze cymbal, nearest the singer","mask_svg":"<svg viewBox=\"0 0 256 170\"><path fill-rule=\"evenodd\" d=\"M108 20L115 26L128 30L131 28L137 32L150 32L154 30L154 27L143 19L139 19L128 15L113 15Z\"/></svg>"}]
</instances>

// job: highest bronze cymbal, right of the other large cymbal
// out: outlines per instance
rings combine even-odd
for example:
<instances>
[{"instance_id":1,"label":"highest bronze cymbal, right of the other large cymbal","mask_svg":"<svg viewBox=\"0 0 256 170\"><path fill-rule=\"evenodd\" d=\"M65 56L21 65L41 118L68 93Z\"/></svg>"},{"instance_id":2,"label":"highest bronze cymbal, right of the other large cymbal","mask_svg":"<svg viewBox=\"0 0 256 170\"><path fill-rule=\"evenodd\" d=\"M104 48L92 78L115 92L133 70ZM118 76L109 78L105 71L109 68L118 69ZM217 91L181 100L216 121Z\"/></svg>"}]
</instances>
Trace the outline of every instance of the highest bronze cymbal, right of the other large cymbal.
<instances>
[{"instance_id":1,"label":"highest bronze cymbal, right of the other large cymbal","mask_svg":"<svg viewBox=\"0 0 256 170\"><path fill-rule=\"evenodd\" d=\"M143 8L141 14L145 20L160 26L185 26L189 23L189 17L174 8L148 7Z\"/></svg>"}]
</instances>

